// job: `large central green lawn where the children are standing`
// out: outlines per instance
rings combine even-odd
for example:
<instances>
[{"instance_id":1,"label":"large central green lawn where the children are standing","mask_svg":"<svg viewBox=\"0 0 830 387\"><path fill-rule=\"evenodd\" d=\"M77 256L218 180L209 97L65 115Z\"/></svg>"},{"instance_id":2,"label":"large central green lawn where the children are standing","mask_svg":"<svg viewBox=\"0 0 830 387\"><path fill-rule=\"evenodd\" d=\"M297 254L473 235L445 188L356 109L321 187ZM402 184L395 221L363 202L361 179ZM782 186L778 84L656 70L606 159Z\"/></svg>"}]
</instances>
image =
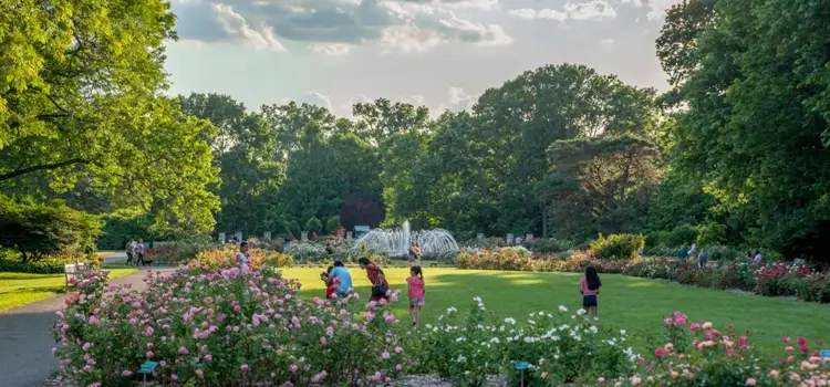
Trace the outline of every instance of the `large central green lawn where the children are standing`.
<instances>
[{"instance_id":1,"label":"large central green lawn where the children are standing","mask_svg":"<svg viewBox=\"0 0 830 387\"><path fill-rule=\"evenodd\" d=\"M303 287L300 296L307 300L324 296L320 281L323 268L292 268L283 273L298 279ZM365 273L350 268L354 285L362 296L369 295ZM393 289L406 297L408 269L386 269ZM581 306L579 274L525 273L504 271L456 270L425 268L426 306L424 322L429 323L449 306L466 311L474 296L484 299L489 311L499 318L525 321L531 312L557 311L559 305L570 310ZM751 330L750 344L766 352L780 352L785 335L830 339L830 306L801 301L738 295L724 291L697 289L654 280L622 275L602 275L600 322L613 328L626 330L642 351L646 335L660 333L664 316L673 311L686 313L692 321L710 321L722 332L728 324L743 334ZM394 304L396 314L408 318L406 303ZM650 333L649 333L650 332Z\"/></svg>"}]
</instances>

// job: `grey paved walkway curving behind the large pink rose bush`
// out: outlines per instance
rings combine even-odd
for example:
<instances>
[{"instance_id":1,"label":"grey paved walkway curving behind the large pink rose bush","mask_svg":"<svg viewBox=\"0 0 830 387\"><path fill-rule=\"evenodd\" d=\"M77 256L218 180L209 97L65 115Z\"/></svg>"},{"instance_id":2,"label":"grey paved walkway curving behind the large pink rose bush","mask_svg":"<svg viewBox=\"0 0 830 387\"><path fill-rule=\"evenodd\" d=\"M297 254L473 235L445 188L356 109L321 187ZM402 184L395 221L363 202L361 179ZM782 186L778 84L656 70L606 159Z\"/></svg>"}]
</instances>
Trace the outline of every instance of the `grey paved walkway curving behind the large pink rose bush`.
<instances>
[{"instance_id":1,"label":"grey paved walkway curving behind the large pink rose bush","mask_svg":"<svg viewBox=\"0 0 830 387\"><path fill-rule=\"evenodd\" d=\"M116 253L107 257L105 261L118 259L126 259L126 254ZM152 270L174 271L169 268ZM133 289L142 291L145 287L143 280L146 275L147 269L142 268L110 283L132 283ZM64 306L65 299L66 295L61 294L0 311L0 386L41 386L58 368L58 360L52 356L54 338L51 328L55 322L55 312Z\"/></svg>"}]
</instances>

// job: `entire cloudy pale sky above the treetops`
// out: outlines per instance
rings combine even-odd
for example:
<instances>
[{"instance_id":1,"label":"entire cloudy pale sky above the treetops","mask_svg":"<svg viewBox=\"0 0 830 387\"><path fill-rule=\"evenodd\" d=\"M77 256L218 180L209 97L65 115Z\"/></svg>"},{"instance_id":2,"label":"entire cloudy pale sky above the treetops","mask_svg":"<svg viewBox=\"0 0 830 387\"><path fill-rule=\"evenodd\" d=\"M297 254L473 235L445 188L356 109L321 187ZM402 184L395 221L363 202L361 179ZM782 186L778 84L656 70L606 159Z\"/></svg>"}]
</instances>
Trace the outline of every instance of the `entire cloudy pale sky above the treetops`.
<instances>
[{"instance_id":1,"label":"entire cloudy pale sky above the treetops","mask_svg":"<svg viewBox=\"0 0 830 387\"><path fill-rule=\"evenodd\" d=\"M170 93L350 115L384 97L434 114L546 64L665 90L654 41L679 0L172 0Z\"/></svg>"}]
</instances>

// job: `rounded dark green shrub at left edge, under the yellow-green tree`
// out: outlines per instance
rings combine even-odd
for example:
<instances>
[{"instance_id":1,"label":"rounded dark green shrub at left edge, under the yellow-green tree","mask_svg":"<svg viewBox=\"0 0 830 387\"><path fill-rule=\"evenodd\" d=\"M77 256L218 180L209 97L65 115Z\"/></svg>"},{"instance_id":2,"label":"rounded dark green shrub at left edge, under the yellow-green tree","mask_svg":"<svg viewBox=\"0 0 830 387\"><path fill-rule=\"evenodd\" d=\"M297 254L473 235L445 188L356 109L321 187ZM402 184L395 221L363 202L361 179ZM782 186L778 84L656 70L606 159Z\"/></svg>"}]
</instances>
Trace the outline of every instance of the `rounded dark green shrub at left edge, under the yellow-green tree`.
<instances>
[{"instance_id":1,"label":"rounded dark green shrub at left edge, under the yellow-green tree","mask_svg":"<svg viewBox=\"0 0 830 387\"><path fill-rule=\"evenodd\" d=\"M91 248L102 227L97 217L62 201L40 205L0 196L0 245L18 251L24 262Z\"/></svg>"}]
</instances>

